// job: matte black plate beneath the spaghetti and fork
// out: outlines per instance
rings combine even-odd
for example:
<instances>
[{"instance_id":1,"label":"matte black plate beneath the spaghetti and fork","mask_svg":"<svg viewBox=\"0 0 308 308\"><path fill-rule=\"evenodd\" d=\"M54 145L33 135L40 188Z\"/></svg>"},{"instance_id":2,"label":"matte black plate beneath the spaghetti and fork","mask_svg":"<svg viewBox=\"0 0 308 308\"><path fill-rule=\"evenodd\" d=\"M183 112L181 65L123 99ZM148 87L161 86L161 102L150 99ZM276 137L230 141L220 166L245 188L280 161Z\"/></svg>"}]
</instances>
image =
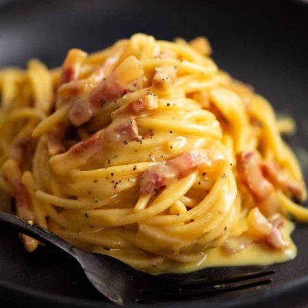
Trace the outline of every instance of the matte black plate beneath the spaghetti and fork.
<instances>
[{"instance_id":1,"label":"matte black plate beneath the spaghetti and fork","mask_svg":"<svg viewBox=\"0 0 308 308\"><path fill-rule=\"evenodd\" d=\"M267 3L266 3L267 2ZM214 59L253 84L280 113L298 123L288 140L308 151L308 5L305 1L1 1L0 66L25 66L38 57L61 64L66 51L95 51L142 31L157 38L205 35ZM307 162L305 166L307 179ZM246 290L169 307L307 307L308 228L293 238L298 257L274 265L266 290ZM201 274L207 274L204 270ZM42 247L23 250L15 233L0 233L0 297L18 307L116 307L88 283L75 261ZM140 306L140 305L139 305ZM7 306L8 307L8 306Z\"/></svg>"}]
</instances>

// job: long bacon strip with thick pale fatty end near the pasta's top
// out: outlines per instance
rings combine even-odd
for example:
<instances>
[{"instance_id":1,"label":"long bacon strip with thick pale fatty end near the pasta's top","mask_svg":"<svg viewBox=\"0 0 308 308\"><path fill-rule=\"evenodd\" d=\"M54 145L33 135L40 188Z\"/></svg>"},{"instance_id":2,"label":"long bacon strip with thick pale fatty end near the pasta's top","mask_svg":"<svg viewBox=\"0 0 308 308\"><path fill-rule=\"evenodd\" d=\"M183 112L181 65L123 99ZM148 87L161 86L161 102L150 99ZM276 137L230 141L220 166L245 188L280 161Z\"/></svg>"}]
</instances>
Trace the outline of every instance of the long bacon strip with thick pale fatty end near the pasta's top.
<instances>
[{"instance_id":1,"label":"long bacon strip with thick pale fatty end near the pasta's top","mask_svg":"<svg viewBox=\"0 0 308 308\"><path fill-rule=\"evenodd\" d=\"M143 68L139 60L133 55L127 57L109 77L90 92L89 98L76 101L68 113L70 121L76 126L88 122L107 101L122 97L125 88L141 75Z\"/></svg>"}]
</instances>

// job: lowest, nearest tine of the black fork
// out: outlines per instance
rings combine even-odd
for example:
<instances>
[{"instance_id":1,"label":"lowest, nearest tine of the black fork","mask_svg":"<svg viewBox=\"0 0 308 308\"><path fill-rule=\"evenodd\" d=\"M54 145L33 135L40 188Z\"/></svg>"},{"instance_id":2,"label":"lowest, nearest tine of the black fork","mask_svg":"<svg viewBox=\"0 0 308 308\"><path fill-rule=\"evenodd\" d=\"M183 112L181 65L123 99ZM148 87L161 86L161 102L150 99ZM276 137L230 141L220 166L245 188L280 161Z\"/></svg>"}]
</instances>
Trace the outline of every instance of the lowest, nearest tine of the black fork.
<instances>
[{"instance_id":1,"label":"lowest, nearest tine of the black fork","mask_svg":"<svg viewBox=\"0 0 308 308\"><path fill-rule=\"evenodd\" d=\"M191 299L191 297L196 296L203 296L207 294L217 294L221 292L231 292L235 290L242 290L246 289L248 287L256 287L261 285L266 285L268 283L272 282L272 279L264 278L264 277L258 277L253 279L246 279L244 281L237 281L237 282L231 282L231 283L221 283L218 285L210 285L210 286L203 286L198 287L195 289L183 289L182 286L177 286L174 288L152 288L151 290L142 290L143 294L151 294L153 296L159 296L159 298L172 298L172 297L182 297L185 296L185 298Z\"/></svg>"}]
</instances>

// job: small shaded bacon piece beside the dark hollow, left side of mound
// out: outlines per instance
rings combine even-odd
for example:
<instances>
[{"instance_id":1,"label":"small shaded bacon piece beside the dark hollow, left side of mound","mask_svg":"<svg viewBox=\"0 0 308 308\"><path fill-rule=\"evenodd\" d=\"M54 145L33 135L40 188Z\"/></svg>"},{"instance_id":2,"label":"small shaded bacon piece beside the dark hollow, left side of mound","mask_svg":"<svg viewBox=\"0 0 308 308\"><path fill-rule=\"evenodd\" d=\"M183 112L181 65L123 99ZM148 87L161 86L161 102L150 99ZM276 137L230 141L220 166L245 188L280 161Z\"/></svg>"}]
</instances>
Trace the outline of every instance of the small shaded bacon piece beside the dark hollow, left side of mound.
<instances>
[{"instance_id":1,"label":"small shaded bacon piece beside the dark hollow, left side of mound","mask_svg":"<svg viewBox=\"0 0 308 308\"><path fill-rule=\"evenodd\" d=\"M64 123L58 123L57 126L51 129L47 142L47 149L49 155L53 156L65 152L65 129L66 125Z\"/></svg>"}]
</instances>

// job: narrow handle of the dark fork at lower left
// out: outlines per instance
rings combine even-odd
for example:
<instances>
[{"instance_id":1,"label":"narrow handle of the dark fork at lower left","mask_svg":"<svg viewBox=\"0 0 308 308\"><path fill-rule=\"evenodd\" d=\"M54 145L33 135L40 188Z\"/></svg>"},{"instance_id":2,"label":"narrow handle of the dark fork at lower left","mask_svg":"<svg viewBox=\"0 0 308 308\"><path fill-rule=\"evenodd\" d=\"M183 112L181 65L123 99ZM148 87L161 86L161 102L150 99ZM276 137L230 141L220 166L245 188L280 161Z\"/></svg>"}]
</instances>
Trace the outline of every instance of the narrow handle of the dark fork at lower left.
<instances>
[{"instance_id":1,"label":"narrow handle of the dark fork at lower left","mask_svg":"<svg viewBox=\"0 0 308 308\"><path fill-rule=\"evenodd\" d=\"M5 225L10 229L15 229L16 231L29 235L31 238L34 238L44 244L53 244L63 251L66 251L66 253L69 253L73 257L76 257L75 251L77 248L75 246L65 240L62 240L62 238L59 238L51 231L44 229L37 224L31 224L23 218L5 213L4 211L0 211L0 224L1 226Z\"/></svg>"}]
</instances>

